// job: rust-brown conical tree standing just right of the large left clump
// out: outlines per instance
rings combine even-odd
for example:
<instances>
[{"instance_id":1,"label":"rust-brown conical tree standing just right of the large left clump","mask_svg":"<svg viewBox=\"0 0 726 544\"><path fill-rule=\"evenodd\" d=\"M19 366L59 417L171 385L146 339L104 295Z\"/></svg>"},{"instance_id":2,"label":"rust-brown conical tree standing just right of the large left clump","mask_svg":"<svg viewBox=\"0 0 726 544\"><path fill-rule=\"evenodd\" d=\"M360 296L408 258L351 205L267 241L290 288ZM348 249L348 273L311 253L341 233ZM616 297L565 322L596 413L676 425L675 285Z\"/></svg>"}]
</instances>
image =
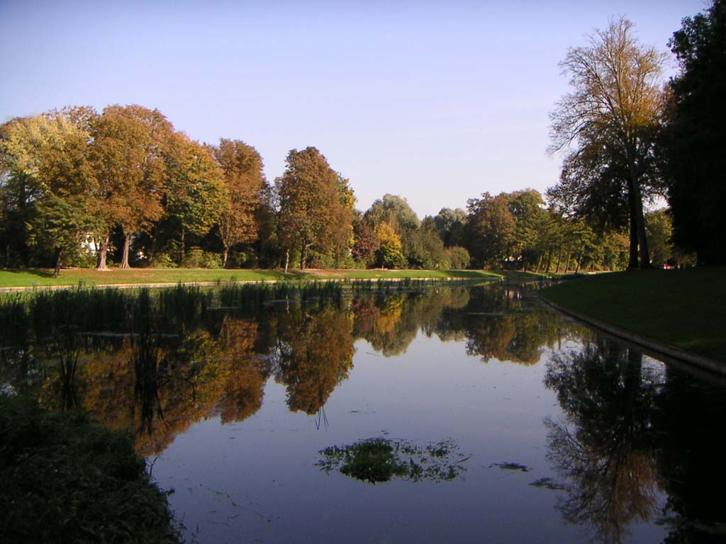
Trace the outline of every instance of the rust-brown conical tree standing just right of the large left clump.
<instances>
[{"instance_id":1,"label":"rust-brown conical tree standing just right of the large left clump","mask_svg":"<svg viewBox=\"0 0 726 544\"><path fill-rule=\"evenodd\" d=\"M278 239L285 250L285 271L290 250L299 248L305 269L311 247L332 249L331 244L352 234L352 211L346 210L340 176L314 147L287 154L287 167L276 181L279 198Z\"/></svg>"}]
</instances>

